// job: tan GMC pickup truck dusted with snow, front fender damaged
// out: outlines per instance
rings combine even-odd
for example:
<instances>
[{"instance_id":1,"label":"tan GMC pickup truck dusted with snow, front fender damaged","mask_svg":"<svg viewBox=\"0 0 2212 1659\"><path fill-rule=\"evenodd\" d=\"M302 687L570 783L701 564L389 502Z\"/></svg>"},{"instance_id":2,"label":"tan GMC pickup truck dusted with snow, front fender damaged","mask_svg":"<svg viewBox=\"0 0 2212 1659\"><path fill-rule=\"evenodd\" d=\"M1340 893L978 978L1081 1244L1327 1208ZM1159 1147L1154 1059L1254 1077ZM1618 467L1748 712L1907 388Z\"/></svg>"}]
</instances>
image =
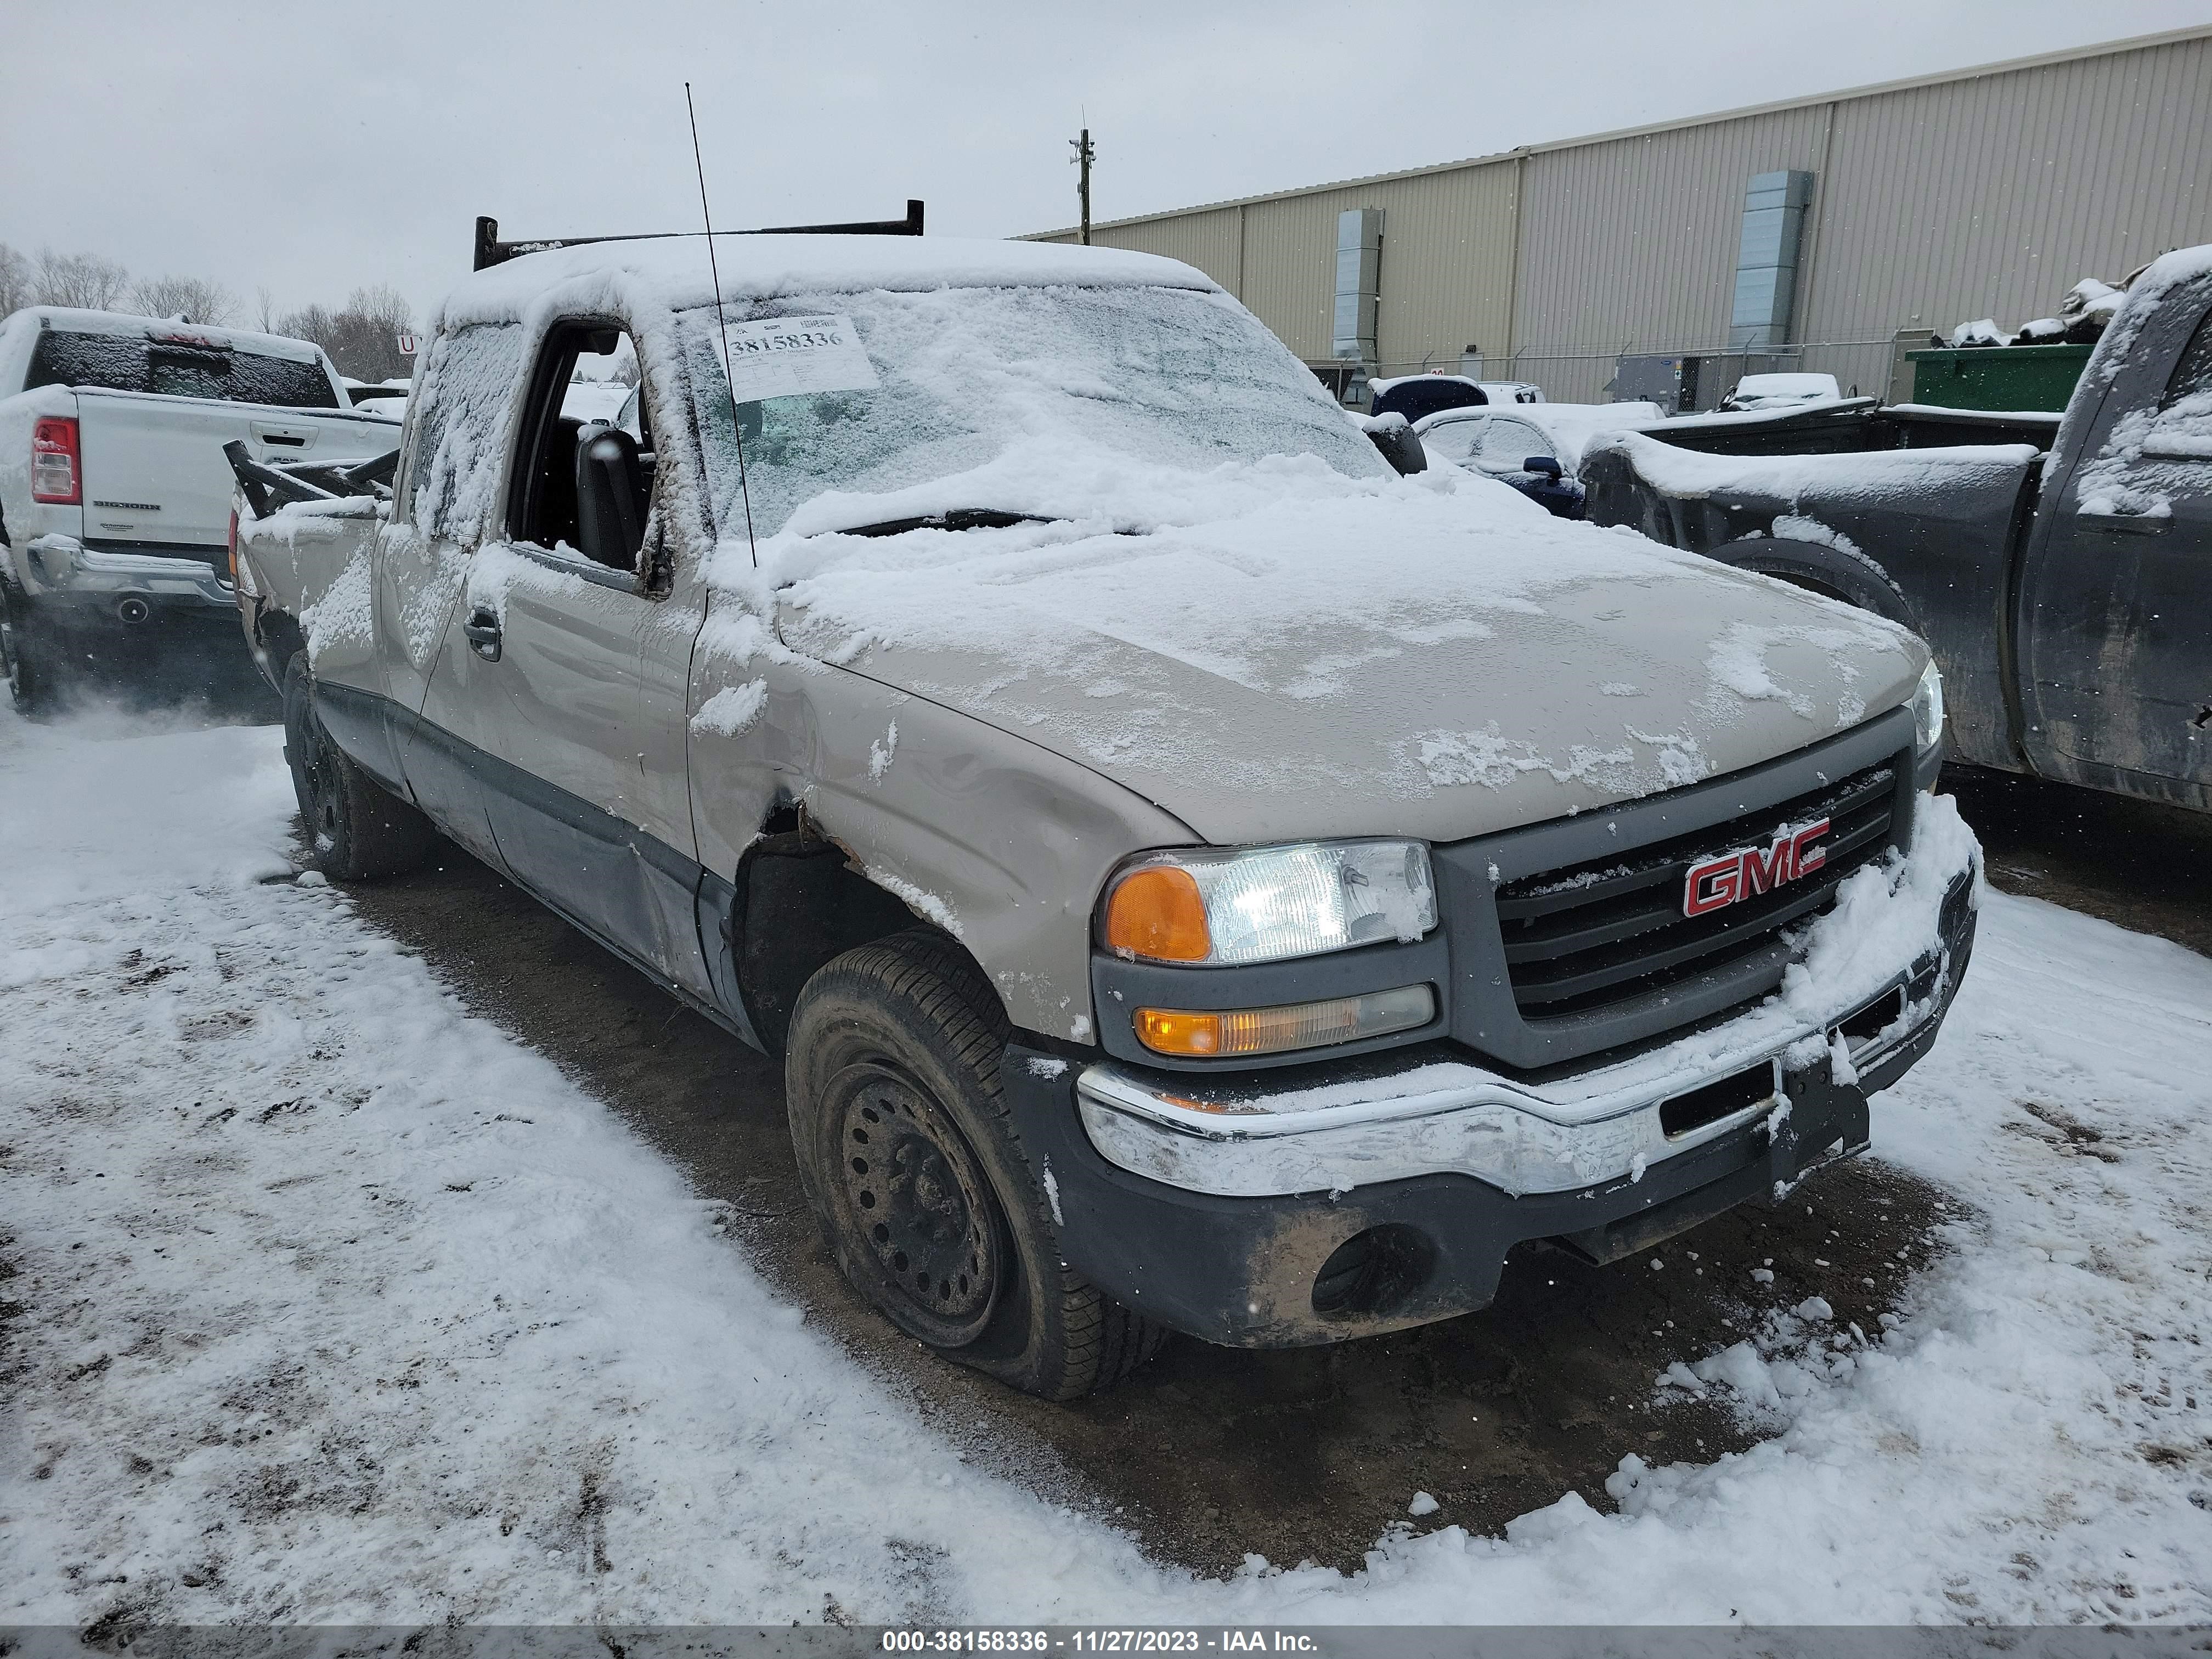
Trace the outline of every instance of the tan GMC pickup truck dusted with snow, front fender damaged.
<instances>
[{"instance_id":1,"label":"tan GMC pickup truck dusted with snow, front fender damaged","mask_svg":"<svg viewBox=\"0 0 2212 1659\"><path fill-rule=\"evenodd\" d=\"M1905 628L1398 476L1175 261L719 261L476 272L239 606L323 869L436 827L781 1053L898 1327L1073 1396L1867 1146L1975 916ZM639 436L562 418L622 336Z\"/></svg>"}]
</instances>

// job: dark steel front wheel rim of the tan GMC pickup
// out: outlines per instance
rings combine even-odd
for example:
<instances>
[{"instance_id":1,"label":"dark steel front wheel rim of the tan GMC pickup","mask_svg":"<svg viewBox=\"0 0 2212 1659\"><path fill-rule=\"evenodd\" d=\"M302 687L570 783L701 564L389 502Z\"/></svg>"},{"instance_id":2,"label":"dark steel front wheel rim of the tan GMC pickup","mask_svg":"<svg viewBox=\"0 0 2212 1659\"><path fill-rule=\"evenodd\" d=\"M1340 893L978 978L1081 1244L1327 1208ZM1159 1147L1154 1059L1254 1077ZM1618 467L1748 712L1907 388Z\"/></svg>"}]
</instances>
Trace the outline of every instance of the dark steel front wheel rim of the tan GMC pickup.
<instances>
[{"instance_id":1,"label":"dark steel front wheel rim of the tan GMC pickup","mask_svg":"<svg viewBox=\"0 0 2212 1659\"><path fill-rule=\"evenodd\" d=\"M841 1208L876 1281L927 1340L973 1343L1011 1259L967 1137L920 1084L880 1062L847 1066L827 1093Z\"/></svg>"}]
</instances>

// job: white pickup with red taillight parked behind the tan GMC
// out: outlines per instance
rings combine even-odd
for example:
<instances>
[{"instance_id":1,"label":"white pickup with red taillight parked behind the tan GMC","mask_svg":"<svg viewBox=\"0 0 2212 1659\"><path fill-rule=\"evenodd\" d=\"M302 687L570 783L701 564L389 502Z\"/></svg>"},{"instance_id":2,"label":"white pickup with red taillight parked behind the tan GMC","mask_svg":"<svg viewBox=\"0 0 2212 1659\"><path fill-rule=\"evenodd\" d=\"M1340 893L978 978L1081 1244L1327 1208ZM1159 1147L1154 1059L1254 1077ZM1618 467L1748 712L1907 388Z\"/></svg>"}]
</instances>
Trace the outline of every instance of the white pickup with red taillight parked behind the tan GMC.
<instances>
[{"instance_id":1,"label":"white pickup with red taillight parked behind the tan GMC","mask_svg":"<svg viewBox=\"0 0 2212 1659\"><path fill-rule=\"evenodd\" d=\"M230 597L230 465L365 458L319 345L38 305L0 323L0 657L18 708L71 672L184 695L254 684Z\"/></svg>"}]
</instances>

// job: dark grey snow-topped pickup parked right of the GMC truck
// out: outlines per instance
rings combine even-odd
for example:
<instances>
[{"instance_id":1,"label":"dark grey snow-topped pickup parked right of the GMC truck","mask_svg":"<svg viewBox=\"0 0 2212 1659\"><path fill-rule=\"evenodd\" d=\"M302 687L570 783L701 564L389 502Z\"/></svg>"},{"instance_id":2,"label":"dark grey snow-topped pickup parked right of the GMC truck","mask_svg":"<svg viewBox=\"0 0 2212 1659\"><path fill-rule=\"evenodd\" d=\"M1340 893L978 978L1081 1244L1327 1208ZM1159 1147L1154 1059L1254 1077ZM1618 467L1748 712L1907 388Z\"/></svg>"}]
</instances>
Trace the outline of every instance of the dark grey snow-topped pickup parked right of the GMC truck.
<instances>
[{"instance_id":1,"label":"dark grey snow-topped pickup parked right of the GMC truck","mask_svg":"<svg viewBox=\"0 0 2212 1659\"><path fill-rule=\"evenodd\" d=\"M1584 458L1588 511L1913 628L1953 759L2212 810L2212 246L2135 279L2055 434L1871 425L1940 420L1969 442L1747 460L1615 436Z\"/></svg>"}]
</instances>

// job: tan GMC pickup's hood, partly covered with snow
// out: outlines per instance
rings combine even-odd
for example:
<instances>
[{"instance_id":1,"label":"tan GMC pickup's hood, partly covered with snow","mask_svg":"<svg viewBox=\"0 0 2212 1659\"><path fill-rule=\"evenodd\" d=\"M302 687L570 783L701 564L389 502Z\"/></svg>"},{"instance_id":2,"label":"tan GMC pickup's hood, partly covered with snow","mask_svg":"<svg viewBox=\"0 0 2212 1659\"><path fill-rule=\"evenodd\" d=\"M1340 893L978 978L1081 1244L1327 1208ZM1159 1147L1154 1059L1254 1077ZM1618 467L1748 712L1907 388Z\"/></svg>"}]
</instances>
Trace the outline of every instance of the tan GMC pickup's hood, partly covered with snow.
<instances>
[{"instance_id":1,"label":"tan GMC pickup's hood, partly covered with snow","mask_svg":"<svg viewBox=\"0 0 2212 1659\"><path fill-rule=\"evenodd\" d=\"M1588 812L1887 712L1927 661L1880 617L1453 469L1179 478L1048 524L787 531L761 544L779 633L1212 843Z\"/></svg>"}]
</instances>

